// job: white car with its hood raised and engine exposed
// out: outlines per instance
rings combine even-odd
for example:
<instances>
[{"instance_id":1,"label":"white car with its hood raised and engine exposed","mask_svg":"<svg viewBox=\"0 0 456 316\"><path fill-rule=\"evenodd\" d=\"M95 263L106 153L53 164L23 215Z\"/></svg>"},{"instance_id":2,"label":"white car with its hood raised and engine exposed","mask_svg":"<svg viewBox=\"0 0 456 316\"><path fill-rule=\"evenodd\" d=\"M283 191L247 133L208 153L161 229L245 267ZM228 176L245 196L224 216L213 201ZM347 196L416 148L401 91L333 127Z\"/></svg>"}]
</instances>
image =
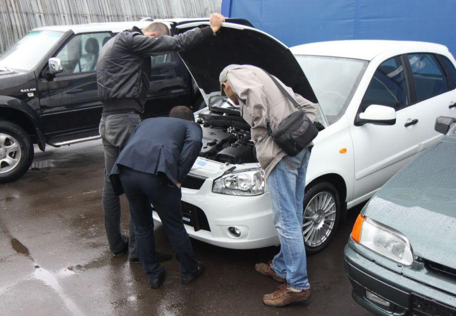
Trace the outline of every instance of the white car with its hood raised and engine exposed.
<instances>
[{"instance_id":1,"label":"white car with its hood raised and engine exposed","mask_svg":"<svg viewBox=\"0 0 456 316\"><path fill-rule=\"evenodd\" d=\"M327 246L347 209L441 137L433 128L437 116L456 114L456 62L442 45L338 41L288 49L259 30L224 24L208 45L180 56L209 105L198 113L203 148L182 185L183 221L191 237L222 247L279 244L250 128L220 96L226 65L261 67L319 103L321 131L303 205L308 252Z\"/></svg>"}]
</instances>

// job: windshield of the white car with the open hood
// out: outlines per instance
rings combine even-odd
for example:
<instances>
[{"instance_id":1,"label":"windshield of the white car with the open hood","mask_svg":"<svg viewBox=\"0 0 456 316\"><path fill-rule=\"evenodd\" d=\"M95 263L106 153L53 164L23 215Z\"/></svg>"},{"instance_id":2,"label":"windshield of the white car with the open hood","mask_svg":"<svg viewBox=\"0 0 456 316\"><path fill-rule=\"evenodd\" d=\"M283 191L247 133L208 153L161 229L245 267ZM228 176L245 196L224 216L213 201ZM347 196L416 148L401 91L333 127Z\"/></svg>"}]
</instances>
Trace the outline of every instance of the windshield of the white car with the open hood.
<instances>
[{"instance_id":1,"label":"windshield of the white car with the open hood","mask_svg":"<svg viewBox=\"0 0 456 316\"><path fill-rule=\"evenodd\" d=\"M329 124L339 120L358 87L368 62L358 59L296 55Z\"/></svg>"}]
</instances>

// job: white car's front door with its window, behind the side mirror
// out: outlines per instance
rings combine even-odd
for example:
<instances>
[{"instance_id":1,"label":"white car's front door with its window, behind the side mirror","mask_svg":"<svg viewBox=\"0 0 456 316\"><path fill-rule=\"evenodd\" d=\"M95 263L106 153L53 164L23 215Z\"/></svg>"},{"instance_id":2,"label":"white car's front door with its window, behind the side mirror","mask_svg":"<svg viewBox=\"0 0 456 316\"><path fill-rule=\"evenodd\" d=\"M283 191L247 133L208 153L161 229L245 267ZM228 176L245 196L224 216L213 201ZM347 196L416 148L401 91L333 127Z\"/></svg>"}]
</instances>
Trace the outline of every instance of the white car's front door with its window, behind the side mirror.
<instances>
[{"instance_id":1,"label":"white car's front door with its window, behind the side mirror","mask_svg":"<svg viewBox=\"0 0 456 316\"><path fill-rule=\"evenodd\" d=\"M370 105L396 111L394 125L371 123L350 127L354 148L354 202L369 198L418 152L416 106L410 105L401 56L390 58L375 71L358 113Z\"/></svg>"}]
</instances>

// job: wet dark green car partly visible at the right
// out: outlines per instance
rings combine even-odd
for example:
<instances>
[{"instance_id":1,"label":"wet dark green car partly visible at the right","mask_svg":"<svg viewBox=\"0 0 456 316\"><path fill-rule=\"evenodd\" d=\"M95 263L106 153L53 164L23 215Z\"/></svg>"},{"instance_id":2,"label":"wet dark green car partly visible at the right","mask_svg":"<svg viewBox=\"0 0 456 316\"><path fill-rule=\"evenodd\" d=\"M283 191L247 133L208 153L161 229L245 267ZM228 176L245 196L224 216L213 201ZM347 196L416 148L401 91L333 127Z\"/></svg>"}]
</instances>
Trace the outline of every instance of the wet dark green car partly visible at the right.
<instances>
[{"instance_id":1,"label":"wet dark green car partly visible at the right","mask_svg":"<svg viewBox=\"0 0 456 316\"><path fill-rule=\"evenodd\" d=\"M345 247L353 298L377 315L456 316L456 119L358 216Z\"/></svg>"}]
</instances>

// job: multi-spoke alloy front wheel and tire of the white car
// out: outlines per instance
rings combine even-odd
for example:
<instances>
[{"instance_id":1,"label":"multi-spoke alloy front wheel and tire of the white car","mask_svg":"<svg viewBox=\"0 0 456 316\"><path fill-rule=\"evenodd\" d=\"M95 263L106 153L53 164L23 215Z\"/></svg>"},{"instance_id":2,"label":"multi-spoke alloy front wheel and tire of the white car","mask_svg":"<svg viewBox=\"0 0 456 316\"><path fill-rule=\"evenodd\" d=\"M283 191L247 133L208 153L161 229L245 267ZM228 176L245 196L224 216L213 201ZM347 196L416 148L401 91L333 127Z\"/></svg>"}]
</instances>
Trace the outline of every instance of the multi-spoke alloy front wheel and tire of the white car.
<instances>
[{"instance_id":1,"label":"multi-spoke alloy front wheel and tire of the white car","mask_svg":"<svg viewBox=\"0 0 456 316\"><path fill-rule=\"evenodd\" d=\"M306 190L303 207L306 252L317 253L331 243L337 230L342 212L339 192L329 182L318 182Z\"/></svg>"}]
</instances>

